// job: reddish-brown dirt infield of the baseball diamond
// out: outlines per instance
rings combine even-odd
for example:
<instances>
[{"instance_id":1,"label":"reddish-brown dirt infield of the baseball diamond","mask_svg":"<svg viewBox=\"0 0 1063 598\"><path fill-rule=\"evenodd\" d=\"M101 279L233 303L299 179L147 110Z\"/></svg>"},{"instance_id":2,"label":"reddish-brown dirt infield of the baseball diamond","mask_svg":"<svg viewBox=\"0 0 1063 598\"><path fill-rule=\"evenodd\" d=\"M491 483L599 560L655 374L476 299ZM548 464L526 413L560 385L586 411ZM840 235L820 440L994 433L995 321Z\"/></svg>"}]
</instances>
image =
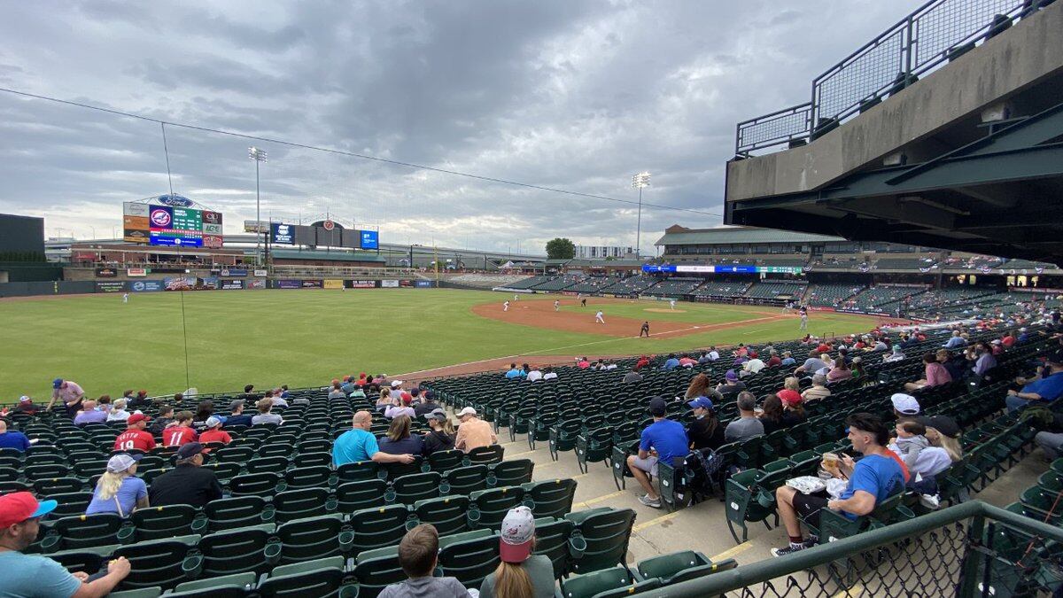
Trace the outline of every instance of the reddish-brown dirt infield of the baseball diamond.
<instances>
[{"instance_id":1,"label":"reddish-brown dirt infield of the baseball diamond","mask_svg":"<svg viewBox=\"0 0 1063 598\"><path fill-rule=\"evenodd\" d=\"M571 300L572 298L569 299ZM587 312L574 313L571 311L555 312L553 301L513 301L509 303L508 312L502 311L501 303L480 303L479 305L473 305L472 312L477 316L506 321L509 323L534 326L536 328L546 328L550 330L563 330L566 332L586 332L589 334L603 334L617 338L627 338L638 336L639 330L642 328L642 322L645 320L609 315L610 304L626 303L630 303L630 300L604 299L595 297L593 303L586 308ZM602 311L605 312L603 317L605 318L606 323L604 325L594 321L594 313L597 312L600 306L603 308ZM647 311L654 310L655 308L647 309ZM660 311L672 312L672 310ZM750 323L763 323L766 321L786 318L796 318L796 316L782 316L771 312L753 313L765 315L746 320L703 325L685 321L646 319L649 321L649 333L654 337L667 336L669 338L675 338L688 334L701 334L704 332L712 332L714 330L724 330L727 328L741 328Z\"/></svg>"}]
</instances>

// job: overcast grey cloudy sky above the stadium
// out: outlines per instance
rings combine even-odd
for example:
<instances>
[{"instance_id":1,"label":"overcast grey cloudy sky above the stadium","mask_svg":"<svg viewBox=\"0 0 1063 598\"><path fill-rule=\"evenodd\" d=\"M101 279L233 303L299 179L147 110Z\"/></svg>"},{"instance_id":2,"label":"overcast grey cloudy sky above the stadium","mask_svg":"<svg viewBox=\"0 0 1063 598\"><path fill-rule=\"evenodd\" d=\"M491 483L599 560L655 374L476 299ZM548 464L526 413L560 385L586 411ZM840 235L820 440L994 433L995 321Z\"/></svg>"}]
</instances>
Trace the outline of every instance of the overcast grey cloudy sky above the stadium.
<instances>
[{"instance_id":1,"label":"overcast grey cloudy sky above the stadium","mask_svg":"<svg viewBox=\"0 0 1063 598\"><path fill-rule=\"evenodd\" d=\"M0 86L484 177L722 214L739 120L807 101L820 72L914 0L4 2ZM255 216L246 139L167 129L172 183ZM275 144L266 219L326 211L385 243L543 252L634 245L634 206ZM156 123L0 94L0 212L49 235L120 234L167 193ZM644 207L642 247L720 216ZM62 230L61 230L62 229Z\"/></svg>"}]
</instances>

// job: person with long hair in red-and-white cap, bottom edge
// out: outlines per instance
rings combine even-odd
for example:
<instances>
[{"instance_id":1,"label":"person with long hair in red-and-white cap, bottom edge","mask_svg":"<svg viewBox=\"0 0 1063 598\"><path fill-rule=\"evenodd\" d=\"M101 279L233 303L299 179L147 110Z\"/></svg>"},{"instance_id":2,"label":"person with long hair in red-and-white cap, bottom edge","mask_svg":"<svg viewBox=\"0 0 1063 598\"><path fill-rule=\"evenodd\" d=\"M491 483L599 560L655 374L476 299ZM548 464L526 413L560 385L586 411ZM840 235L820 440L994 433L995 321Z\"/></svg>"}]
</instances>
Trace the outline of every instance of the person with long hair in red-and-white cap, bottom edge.
<instances>
[{"instance_id":1,"label":"person with long hair in red-and-white cap, bottom edge","mask_svg":"<svg viewBox=\"0 0 1063 598\"><path fill-rule=\"evenodd\" d=\"M506 513L499 536L501 563L484 578L480 598L553 598L554 564L535 550L535 515L527 506Z\"/></svg>"}]
</instances>

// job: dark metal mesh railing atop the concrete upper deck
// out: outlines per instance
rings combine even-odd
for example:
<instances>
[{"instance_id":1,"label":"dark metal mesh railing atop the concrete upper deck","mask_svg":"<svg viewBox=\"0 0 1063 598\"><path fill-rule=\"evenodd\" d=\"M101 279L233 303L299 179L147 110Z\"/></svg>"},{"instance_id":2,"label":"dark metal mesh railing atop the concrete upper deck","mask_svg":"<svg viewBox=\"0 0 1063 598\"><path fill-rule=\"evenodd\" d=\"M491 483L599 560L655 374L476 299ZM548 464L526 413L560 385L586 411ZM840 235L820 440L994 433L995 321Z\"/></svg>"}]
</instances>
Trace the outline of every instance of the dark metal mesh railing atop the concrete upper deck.
<instances>
[{"instance_id":1,"label":"dark metal mesh railing atop the concrete upper deck","mask_svg":"<svg viewBox=\"0 0 1063 598\"><path fill-rule=\"evenodd\" d=\"M812 100L739 122L736 155L804 145L1051 0L931 0L812 81Z\"/></svg>"}]
</instances>

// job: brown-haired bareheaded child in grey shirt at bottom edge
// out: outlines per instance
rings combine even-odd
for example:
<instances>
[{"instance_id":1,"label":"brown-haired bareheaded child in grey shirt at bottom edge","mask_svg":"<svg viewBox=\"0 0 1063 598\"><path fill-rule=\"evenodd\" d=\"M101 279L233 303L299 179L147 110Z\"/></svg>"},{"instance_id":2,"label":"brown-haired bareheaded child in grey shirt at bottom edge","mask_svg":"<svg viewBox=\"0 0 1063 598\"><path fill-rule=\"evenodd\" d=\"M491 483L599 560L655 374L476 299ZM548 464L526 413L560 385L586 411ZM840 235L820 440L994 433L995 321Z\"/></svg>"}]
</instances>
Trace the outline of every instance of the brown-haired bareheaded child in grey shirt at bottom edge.
<instances>
[{"instance_id":1,"label":"brown-haired bareheaded child in grey shirt at bottom edge","mask_svg":"<svg viewBox=\"0 0 1063 598\"><path fill-rule=\"evenodd\" d=\"M399 566L406 581L384 588L379 598L468 598L469 591L455 578L434 577L439 560L439 533L422 524L406 532L399 542Z\"/></svg>"}]
</instances>

